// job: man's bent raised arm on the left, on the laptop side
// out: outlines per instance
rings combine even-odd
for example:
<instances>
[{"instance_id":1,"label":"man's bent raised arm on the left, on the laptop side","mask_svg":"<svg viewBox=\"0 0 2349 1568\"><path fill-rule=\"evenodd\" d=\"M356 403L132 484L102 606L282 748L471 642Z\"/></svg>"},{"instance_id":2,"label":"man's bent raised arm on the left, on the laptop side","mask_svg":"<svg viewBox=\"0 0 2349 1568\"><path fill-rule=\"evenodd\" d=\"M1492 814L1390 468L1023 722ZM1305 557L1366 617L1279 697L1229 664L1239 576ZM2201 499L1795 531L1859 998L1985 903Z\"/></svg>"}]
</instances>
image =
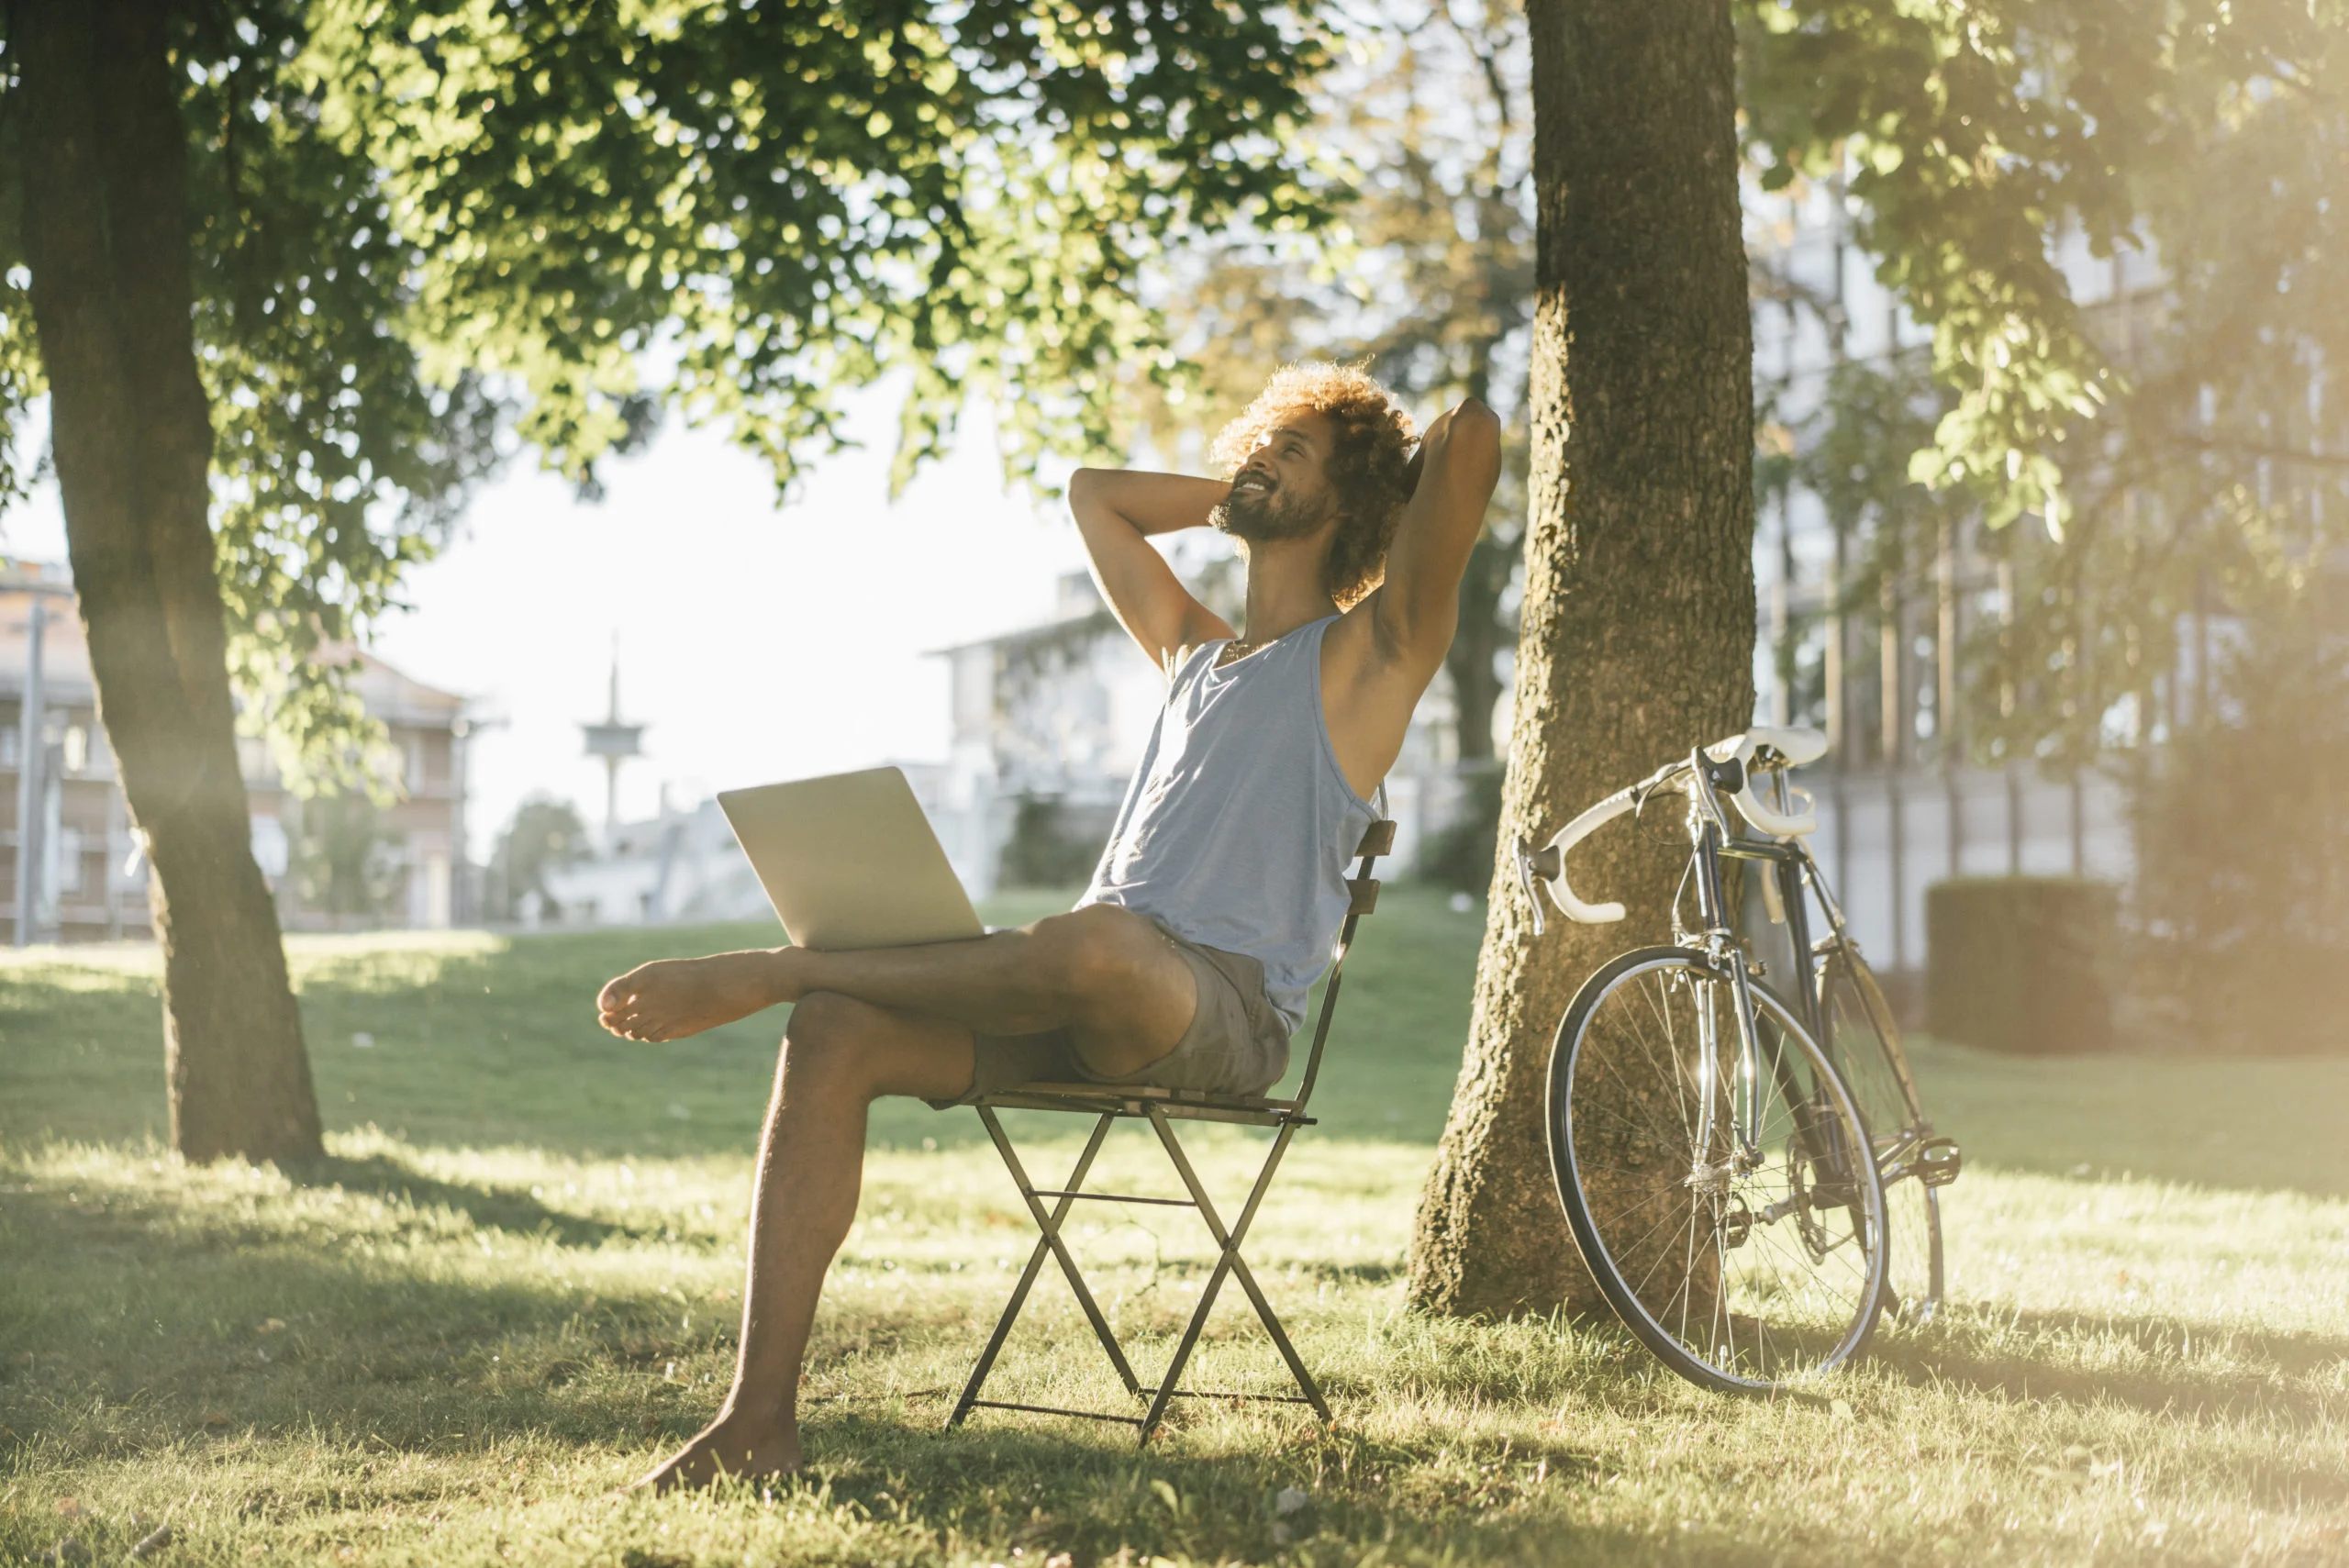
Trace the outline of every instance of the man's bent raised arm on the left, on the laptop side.
<instances>
[{"instance_id":1,"label":"man's bent raised arm on the left, on the laptop side","mask_svg":"<svg viewBox=\"0 0 2349 1568\"><path fill-rule=\"evenodd\" d=\"M1069 479L1069 512L1085 535L1092 580L1160 669L1172 669L1186 648L1231 636L1231 624L1191 596L1151 535L1203 526L1229 493L1214 479L1139 469L1081 467Z\"/></svg>"}]
</instances>

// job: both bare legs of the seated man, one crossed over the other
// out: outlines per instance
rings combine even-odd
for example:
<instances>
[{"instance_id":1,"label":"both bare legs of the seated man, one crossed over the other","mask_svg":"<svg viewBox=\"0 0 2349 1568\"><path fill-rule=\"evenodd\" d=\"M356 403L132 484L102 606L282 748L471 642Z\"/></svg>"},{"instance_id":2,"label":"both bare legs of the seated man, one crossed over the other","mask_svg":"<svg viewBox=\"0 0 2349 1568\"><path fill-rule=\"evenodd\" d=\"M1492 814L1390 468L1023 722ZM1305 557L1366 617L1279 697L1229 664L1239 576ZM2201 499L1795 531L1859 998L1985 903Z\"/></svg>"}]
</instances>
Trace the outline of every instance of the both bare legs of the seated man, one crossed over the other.
<instances>
[{"instance_id":1,"label":"both bare legs of the seated man, one crossed over the other","mask_svg":"<svg viewBox=\"0 0 2349 1568\"><path fill-rule=\"evenodd\" d=\"M799 1005L759 1138L733 1387L639 1486L799 1467L799 1368L824 1270L855 1221L876 1099L963 1094L975 1033L1069 1028L1090 1068L1135 1073L1182 1042L1198 1005L1191 967L1156 925L1092 906L933 948L646 965L611 981L599 1007L613 1033L674 1040L782 1000Z\"/></svg>"}]
</instances>

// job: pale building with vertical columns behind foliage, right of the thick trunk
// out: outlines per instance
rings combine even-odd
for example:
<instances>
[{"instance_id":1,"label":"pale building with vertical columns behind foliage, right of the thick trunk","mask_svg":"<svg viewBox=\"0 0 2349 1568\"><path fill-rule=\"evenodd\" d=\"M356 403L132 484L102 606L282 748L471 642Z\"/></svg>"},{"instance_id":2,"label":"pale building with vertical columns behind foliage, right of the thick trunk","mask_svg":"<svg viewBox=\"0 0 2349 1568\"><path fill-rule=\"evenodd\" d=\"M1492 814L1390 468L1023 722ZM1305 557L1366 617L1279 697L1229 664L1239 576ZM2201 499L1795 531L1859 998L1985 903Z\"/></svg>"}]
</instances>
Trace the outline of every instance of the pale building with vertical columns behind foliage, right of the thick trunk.
<instances>
[{"instance_id":1,"label":"pale building with vertical columns behind foliage, right of the thick trunk","mask_svg":"<svg viewBox=\"0 0 2349 1568\"><path fill-rule=\"evenodd\" d=\"M1813 439L1830 378L1853 364L1891 376L1931 354L1931 333L1875 277L1851 242L1837 183L1788 197L1748 192L1755 270L1755 392L1762 441ZM2077 237L2060 258L2086 319L2126 338L2159 282L2142 256L2095 261ZM2020 519L2011 528L2037 528ZM1968 638L2006 613L2013 577L1968 519L1900 556L1875 519L1835 519L1804 484L1771 493L1755 519L1759 641L1757 721L1828 735L1806 770L1818 798L1813 847L1860 946L1879 969L1924 965L1924 897L1954 876L2091 876L2135 869L2123 791L2095 768L1983 765L1966 744L1961 676ZM1626 779L1644 765L1628 765Z\"/></svg>"}]
</instances>

